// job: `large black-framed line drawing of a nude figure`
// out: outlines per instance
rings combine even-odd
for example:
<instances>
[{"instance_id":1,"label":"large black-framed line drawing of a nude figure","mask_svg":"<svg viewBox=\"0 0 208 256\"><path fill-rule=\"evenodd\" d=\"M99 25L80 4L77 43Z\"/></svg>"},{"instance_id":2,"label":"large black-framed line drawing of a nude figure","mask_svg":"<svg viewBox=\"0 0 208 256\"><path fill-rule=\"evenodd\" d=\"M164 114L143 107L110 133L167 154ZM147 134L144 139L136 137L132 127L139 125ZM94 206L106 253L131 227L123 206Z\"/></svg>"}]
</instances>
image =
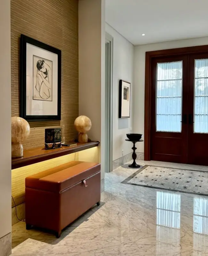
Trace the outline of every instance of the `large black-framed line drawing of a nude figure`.
<instances>
[{"instance_id":1,"label":"large black-framed line drawing of a nude figure","mask_svg":"<svg viewBox=\"0 0 208 256\"><path fill-rule=\"evenodd\" d=\"M22 34L20 114L28 121L61 119L61 50Z\"/></svg>"}]
</instances>

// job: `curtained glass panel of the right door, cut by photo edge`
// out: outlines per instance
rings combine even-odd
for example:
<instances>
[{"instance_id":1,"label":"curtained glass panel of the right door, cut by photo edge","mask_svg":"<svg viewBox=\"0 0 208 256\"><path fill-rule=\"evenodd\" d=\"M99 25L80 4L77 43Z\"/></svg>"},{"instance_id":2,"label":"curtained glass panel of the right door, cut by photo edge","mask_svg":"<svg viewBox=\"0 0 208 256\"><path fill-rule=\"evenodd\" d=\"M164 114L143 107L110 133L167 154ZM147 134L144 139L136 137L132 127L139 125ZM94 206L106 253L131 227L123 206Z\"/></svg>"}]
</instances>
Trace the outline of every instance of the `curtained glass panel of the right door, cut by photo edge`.
<instances>
[{"instance_id":1,"label":"curtained glass panel of the right door, cut by photo edge","mask_svg":"<svg viewBox=\"0 0 208 256\"><path fill-rule=\"evenodd\" d=\"M208 133L208 59L195 60L194 132Z\"/></svg>"}]
</instances>

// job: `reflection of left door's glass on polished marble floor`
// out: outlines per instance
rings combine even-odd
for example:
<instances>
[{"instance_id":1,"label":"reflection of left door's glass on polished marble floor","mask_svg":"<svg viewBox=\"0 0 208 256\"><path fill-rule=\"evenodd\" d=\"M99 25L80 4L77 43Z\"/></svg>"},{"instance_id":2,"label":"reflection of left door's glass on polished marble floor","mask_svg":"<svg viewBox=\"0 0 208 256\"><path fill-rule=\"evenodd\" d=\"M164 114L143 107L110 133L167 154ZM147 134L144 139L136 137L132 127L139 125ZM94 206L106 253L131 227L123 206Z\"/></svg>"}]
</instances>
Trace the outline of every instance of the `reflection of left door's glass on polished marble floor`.
<instances>
[{"instance_id":1,"label":"reflection of left door's glass on polished marble floor","mask_svg":"<svg viewBox=\"0 0 208 256\"><path fill-rule=\"evenodd\" d=\"M180 254L180 195L157 191L156 197L157 255Z\"/></svg>"}]
</instances>

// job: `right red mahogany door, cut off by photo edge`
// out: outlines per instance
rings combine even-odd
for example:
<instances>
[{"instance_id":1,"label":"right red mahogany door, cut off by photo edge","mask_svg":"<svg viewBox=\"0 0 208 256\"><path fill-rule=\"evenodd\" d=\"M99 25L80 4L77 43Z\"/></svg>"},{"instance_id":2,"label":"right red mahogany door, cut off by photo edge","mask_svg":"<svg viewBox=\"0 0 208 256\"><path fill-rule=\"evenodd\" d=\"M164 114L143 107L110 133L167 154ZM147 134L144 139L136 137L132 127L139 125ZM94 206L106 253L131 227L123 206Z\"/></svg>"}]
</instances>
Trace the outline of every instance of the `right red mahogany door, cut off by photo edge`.
<instances>
[{"instance_id":1,"label":"right red mahogany door, cut off by photo edge","mask_svg":"<svg viewBox=\"0 0 208 256\"><path fill-rule=\"evenodd\" d=\"M188 163L208 165L208 54L189 56Z\"/></svg>"}]
</instances>

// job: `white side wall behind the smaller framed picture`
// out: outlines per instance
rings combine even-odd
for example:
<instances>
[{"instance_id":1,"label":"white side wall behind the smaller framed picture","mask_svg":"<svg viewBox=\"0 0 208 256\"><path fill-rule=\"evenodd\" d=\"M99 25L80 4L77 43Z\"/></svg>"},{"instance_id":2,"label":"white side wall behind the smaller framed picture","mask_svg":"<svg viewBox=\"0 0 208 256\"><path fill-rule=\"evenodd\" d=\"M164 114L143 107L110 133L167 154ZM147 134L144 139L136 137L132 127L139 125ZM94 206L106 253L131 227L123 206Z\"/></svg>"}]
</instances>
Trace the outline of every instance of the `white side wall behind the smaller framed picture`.
<instances>
[{"instance_id":1,"label":"white side wall behind the smaller framed picture","mask_svg":"<svg viewBox=\"0 0 208 256\"><path fill-rule=\"evenodd\" d=\"M113 37L113 160L132 152L132 143L125 141L133 125L133 55L134 46L106 23L106 32ZM131 83L130 118L118 118L119 80Z\"/></svg>"}]
</instances>

